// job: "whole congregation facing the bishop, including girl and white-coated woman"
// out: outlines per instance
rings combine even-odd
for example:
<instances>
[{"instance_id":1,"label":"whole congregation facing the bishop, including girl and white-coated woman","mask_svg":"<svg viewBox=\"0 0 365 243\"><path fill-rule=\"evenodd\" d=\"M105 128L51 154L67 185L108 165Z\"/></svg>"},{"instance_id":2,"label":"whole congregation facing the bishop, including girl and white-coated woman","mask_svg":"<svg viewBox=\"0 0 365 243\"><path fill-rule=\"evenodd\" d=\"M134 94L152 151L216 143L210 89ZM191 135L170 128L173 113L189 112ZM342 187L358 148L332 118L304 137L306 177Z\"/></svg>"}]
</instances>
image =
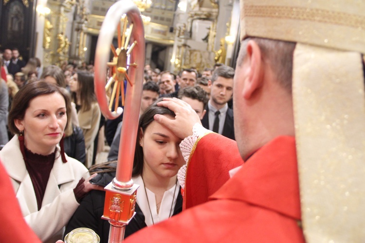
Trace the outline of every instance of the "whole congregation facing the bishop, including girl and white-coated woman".
<instances>
[{"instance_id":1,"label":"whole congregation facing the bishop, including girl and white-coated woman","mask_svg":"<svg viewBox=\"0 0 365 243\"><path fill-rule=\"evenodd\" d=\"M7 62L9 51L3 52L7 59L2 66L6 79L1 79L0 86L0 159L13 182L25 221L43 242L62 239L65 226L65 233L89 227L106 242L109 223L99 220L105 193L98 190L115 177L123 115L105 121L95 98L90 65L62 63L42 67L39 59L30 58L26 64L18 62L17 70L11 73L8 67L10 63L16 65L12 60L19 59L19 54L14 49L13 58ZM177 75L146 65L132 174L145 193L137 195L136 221L128 225L126 237L183 208L177 180L178 171L185 164L178 146L182 139L154 121L156 114L170 119L175 116L158 102L167 97L181 99L194 109L204 126L234 139L233 77L234 69L222 64L201 72L183 69ZM105 127L105 135L100 132L101 127ZM110 145L108 162L101 164L95 164L98 136ZM17 150L18 154L14 152ZM11 164L10 156L14 155L17 163ZM22 169L19 172L15 168ZM64 175L59 177L61 172ZM96 177L89 177L89 173ZM55 190L51 184L59 185L58 192L50 192ZM86 193L91 188L96 190ZM46 214L54 210L62 213L62 207L68 207L62 220L52 224L44 220L40 224ZM91 211L94 213L88 216ZM49 226L47 231L43 225Z\"/></svg>"}]
</instances>

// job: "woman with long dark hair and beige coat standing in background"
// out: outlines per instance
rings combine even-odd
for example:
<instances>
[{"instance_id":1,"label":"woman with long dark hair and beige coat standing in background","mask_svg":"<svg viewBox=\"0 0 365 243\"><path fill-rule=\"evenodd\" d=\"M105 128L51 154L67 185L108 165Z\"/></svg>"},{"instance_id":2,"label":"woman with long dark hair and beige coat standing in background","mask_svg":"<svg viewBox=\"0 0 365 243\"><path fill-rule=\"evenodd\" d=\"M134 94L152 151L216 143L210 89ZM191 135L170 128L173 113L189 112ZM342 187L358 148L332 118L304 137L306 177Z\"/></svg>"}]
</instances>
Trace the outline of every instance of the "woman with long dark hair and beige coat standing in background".
<instances>
[{"instance_id":1,"label":"woman with long dark hair and beige coat standing in background","mask_svg":"<svg viewBox=\"0 0 365 243\"><path fill-rule=\"evenodd\" d=\"M99 131L101 112L94 93L94 76L88 71L75 73L70 80L73 102L76 104L79 126L86 147L86 167L92 164L94 140Z\"/></svg>"}]
</instances>

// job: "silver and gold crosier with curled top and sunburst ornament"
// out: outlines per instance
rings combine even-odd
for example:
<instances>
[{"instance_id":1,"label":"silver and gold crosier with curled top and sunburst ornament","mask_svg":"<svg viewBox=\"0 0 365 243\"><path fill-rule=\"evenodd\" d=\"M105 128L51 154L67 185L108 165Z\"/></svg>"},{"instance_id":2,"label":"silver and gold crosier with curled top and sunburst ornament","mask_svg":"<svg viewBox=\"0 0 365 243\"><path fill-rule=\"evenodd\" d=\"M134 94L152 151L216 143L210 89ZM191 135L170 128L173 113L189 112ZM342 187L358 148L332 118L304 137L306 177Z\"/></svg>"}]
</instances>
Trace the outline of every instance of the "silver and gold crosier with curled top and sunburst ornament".
<instances>
[{"instance_id":1,"label":"silver and gold crosier with curled top and sunburst ornament","mask_svg":"<svg viewBox=\"0 0 365 243\"><path fill-rule=\"evenodd\" d=\"M123 23L122 23L123 22ZM133 27L134 26L134 27ZM111 43L117 30L118 46ZM110 48L113 53L111 62ZM129 63L128 63L129 59ZM107 78L107 66L110 77ZM95 94L101 112L107 119L117 118L119 96L124 104L124 119L115 178L105 187L103 219L110 222L109 242L122 242L125 226L135 212L138 185L131 179L135 139L137 138L139 110L141 106L143 76L145 66L145 33L143 20L138 8L131 0L114 3L101 26L95 52ZM124 80L127 79L124 97ZM107 82L108 80L108 82ZM106 90L114 83L108 104ZM115 107L111 112L112 102Z\"/></svg>"}]
</instances>

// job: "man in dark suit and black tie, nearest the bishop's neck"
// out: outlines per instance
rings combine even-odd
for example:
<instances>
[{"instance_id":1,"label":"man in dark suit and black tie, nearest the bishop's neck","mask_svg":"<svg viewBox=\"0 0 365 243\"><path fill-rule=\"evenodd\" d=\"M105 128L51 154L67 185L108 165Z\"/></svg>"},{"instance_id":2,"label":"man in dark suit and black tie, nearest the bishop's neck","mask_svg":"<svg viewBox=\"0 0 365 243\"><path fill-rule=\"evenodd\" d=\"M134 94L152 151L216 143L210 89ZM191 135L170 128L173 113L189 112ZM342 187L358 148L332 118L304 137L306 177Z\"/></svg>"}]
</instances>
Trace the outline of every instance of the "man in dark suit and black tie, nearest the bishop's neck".
<instances>
[{"instance_id":1,"label":"man in dark suit and black tie, nearest the bishop's neck","mask_svg":"<svg viewBox=\"0 0 365 243\"><path fill-rule=\"evenodd\" d=\"M207 112L201 120L206 129L230 139L235 139L235 130L233 110L228 107L227 102L232 98L234 75L235 70L225 65L213 72L210 99L205 107Z\"/></svg>"}]
</instances>

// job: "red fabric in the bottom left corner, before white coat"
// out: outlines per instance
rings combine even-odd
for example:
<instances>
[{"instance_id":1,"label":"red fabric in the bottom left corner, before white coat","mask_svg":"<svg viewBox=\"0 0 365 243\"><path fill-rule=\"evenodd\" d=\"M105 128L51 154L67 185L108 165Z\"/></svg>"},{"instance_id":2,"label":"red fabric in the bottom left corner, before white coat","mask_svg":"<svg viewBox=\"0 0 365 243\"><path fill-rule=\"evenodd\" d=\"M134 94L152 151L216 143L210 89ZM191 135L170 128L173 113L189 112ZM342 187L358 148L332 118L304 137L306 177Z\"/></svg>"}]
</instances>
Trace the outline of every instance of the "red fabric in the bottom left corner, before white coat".
<instances>
[{"instance_id":1,"label":"red fabric in the bottom left corner, before white coat","mask_svg":"<svg viewBox=\"0 0 365 243\"><path fill-rule=\"evenodd\" d=\"M40 243L23 219L9 175L0 162L0 242Z\"/></svg>"}]
</instances>

